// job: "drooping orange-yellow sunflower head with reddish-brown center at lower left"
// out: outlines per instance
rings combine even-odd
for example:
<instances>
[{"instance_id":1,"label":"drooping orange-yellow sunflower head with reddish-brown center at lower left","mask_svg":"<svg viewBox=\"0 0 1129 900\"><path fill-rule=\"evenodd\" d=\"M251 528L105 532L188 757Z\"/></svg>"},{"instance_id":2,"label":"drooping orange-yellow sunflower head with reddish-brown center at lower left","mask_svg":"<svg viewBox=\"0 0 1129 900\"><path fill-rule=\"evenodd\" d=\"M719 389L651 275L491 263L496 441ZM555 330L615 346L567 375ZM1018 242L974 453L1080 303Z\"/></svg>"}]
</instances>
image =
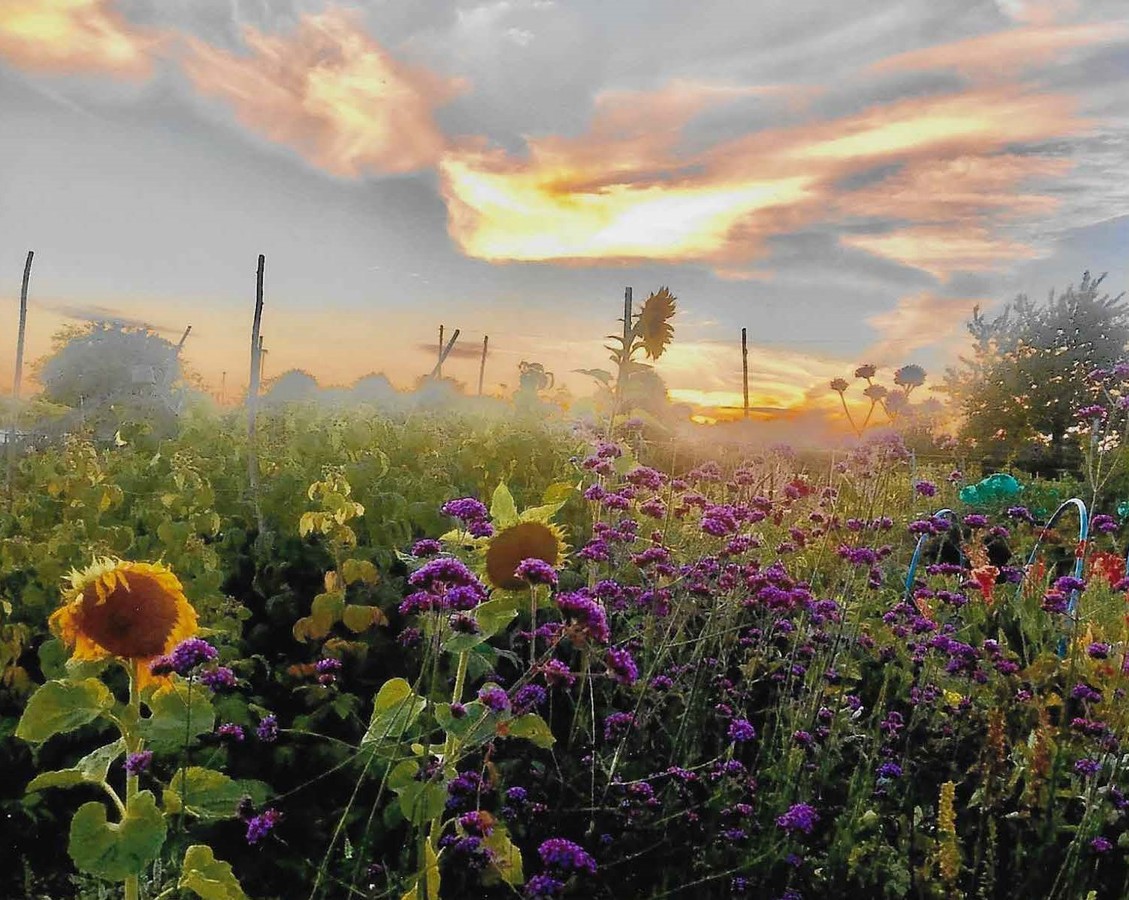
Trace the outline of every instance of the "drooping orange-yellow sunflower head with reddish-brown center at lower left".
<instances>
[{"instance_id":1,"label":"drooping orange-yellow sunflower head with reddish-brown center at lower left","mask_svg":"<svg viewBox=\"0 0 1129 900\"><path fill-rule=\"evenodd\" d=\"M172 569L159 562L96 559L70 574L51 630L73 658L137 662L139 687L154 676L148 663L196 631L196 611Z\"/></svg>"}]
</instances>

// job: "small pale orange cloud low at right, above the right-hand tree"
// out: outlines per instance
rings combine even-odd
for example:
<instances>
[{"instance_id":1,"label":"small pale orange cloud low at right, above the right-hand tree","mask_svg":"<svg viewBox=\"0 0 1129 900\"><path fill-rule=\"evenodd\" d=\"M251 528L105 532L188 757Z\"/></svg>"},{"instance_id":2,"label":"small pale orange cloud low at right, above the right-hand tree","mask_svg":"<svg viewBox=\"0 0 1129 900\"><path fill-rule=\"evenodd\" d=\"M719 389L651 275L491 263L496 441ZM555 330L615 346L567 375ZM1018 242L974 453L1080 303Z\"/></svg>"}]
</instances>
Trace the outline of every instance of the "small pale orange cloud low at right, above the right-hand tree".
<instances>
[{"instance_id":1,"label":"small pale orange cloud low at right, above the right-hand tree","mask_svg":"<svg viewBox=\"0 0 1129 900\"><path fill-rule=\"evenodd\" d=\"M882 235L852 235L840 241L904 265L929 272L942 281L953 272L981 272L1013 260L1032 260L1033 247L997 237L975 225L922 225Z\"/></svg>"}]
</instances>

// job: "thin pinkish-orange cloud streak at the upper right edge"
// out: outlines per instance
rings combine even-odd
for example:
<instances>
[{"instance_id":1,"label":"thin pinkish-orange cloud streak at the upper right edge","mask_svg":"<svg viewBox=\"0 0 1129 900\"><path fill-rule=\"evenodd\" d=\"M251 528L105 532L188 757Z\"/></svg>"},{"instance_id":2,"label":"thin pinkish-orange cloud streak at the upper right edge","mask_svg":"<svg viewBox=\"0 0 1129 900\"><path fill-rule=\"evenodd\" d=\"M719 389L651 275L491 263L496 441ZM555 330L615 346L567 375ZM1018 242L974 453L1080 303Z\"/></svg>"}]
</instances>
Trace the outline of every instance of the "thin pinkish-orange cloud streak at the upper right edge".
<instances>
[{"instance_id":1,"label":"thin pinkish-orange cloud streak at the upper right edge","mask_svg":"<svg viewBox=\"0 0 1129 900\"><path fill-rule=\"evenodd\" d=\"M1094 44L1118 44L1129 35L1126 23L1088 25L1033 24L978 35L940 46L899 53L870 67L872 71L956 69L970 75L1033 69L1051 56Z\"/></svg>"}]
</instances>

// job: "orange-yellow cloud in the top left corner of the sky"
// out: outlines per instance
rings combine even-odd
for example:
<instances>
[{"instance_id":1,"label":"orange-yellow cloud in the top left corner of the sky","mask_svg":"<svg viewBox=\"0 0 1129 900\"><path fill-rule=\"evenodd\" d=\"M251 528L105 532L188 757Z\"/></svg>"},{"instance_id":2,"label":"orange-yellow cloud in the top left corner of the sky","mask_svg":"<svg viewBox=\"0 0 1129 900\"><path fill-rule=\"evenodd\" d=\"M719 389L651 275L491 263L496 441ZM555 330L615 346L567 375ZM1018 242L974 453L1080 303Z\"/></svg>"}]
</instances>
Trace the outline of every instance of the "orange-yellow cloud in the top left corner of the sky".
<instances>
[{"instance_id":1,"label":"orange-yellow cloud in the top left corner of the sky","mask_svg":"<svg viewBox=\"0 0 1129 900\"><path fill-rule=\"evenodd\" d=\"M111 0L5 0L0 8L0 56L28 71L146 78L159 42Z\"/></svg>"}]
</instances>

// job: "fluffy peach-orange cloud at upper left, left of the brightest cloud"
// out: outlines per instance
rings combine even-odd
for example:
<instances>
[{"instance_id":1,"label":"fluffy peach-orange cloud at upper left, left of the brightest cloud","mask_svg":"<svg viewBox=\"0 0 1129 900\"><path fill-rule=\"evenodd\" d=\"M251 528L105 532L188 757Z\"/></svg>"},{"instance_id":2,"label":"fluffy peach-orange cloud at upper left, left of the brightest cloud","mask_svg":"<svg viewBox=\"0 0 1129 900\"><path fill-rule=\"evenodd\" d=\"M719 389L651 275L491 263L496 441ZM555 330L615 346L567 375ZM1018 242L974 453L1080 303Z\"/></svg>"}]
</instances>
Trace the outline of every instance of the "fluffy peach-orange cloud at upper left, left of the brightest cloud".
<instances>
[{"instance_id":1,"label":"fluffy peach-orange cloud at upper left, left of the brightest cloud","mask_svg":"<svg viewBox=\"0 0 1129 900\"><path fill-rule=\"evenodd\" d=\"M246 27L244 41L250 55L189 38L184 67L251 130L345 177L413 172L443 152L434 111L463 82L394 59L355 14L305 15L286 36Z\"/></svg>"}]
</instances>

